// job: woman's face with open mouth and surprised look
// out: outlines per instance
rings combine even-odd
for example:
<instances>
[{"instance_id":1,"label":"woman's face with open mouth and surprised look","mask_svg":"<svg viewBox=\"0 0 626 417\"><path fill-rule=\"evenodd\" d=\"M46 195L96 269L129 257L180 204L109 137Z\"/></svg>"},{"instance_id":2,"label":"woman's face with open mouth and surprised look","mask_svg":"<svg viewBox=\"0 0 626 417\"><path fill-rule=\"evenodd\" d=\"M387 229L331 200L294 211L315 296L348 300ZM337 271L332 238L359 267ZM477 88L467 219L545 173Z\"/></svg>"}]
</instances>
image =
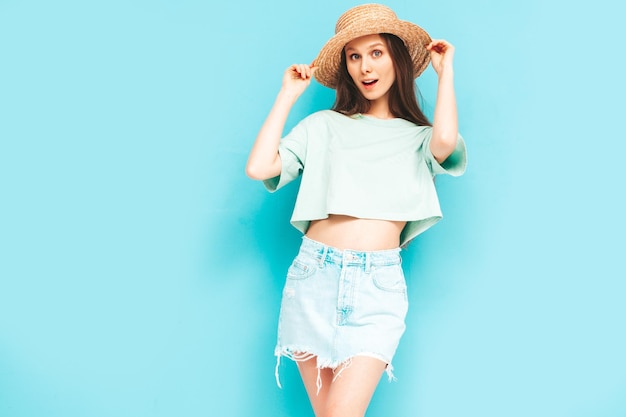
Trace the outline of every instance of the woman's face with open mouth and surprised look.
<instances>
[{"instance_id":1,"label":"woman's face with open mouth and surprised look","mask_svg":"<svg viewBox=\"0 0 626 417\"><path fill-rule=\"evenodd\" d=\"M370 101L387 101L396 72L389 48L380 35L366 35L346 44L346 65L354 84Z\"/></svg>"}]
</instances>

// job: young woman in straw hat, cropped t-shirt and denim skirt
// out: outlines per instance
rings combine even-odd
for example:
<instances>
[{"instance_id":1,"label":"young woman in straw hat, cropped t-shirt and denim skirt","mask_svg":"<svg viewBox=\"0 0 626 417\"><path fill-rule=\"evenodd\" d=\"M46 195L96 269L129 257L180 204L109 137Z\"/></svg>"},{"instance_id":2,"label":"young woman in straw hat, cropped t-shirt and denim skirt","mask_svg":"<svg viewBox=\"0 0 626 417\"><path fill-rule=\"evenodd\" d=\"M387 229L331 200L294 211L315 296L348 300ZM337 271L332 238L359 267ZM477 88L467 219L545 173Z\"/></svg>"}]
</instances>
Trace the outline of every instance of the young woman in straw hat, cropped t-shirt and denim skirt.
<instances>
[{"instance_id":1,"label":"young woman in straw hat, cropped t-shirt and denim skirt","mask_svg":"<svg viewBox=\"0 0 626 417\"><path fill-rule=\"evenodd\" d=\"M296 361L317 417L363 416L382 373L392 378L408 307L401 247L442 217L434 175L465 170L453 54L385 6L354 7L311 66L286 70L250 152L248 176L270 191L302 175L291 222L304 236L287 272L276 356ZM415 92L429 62L438 75L432 125ZM336 89L335 104L281 139L312 77Z\"/></svg>"}]
</instances>

